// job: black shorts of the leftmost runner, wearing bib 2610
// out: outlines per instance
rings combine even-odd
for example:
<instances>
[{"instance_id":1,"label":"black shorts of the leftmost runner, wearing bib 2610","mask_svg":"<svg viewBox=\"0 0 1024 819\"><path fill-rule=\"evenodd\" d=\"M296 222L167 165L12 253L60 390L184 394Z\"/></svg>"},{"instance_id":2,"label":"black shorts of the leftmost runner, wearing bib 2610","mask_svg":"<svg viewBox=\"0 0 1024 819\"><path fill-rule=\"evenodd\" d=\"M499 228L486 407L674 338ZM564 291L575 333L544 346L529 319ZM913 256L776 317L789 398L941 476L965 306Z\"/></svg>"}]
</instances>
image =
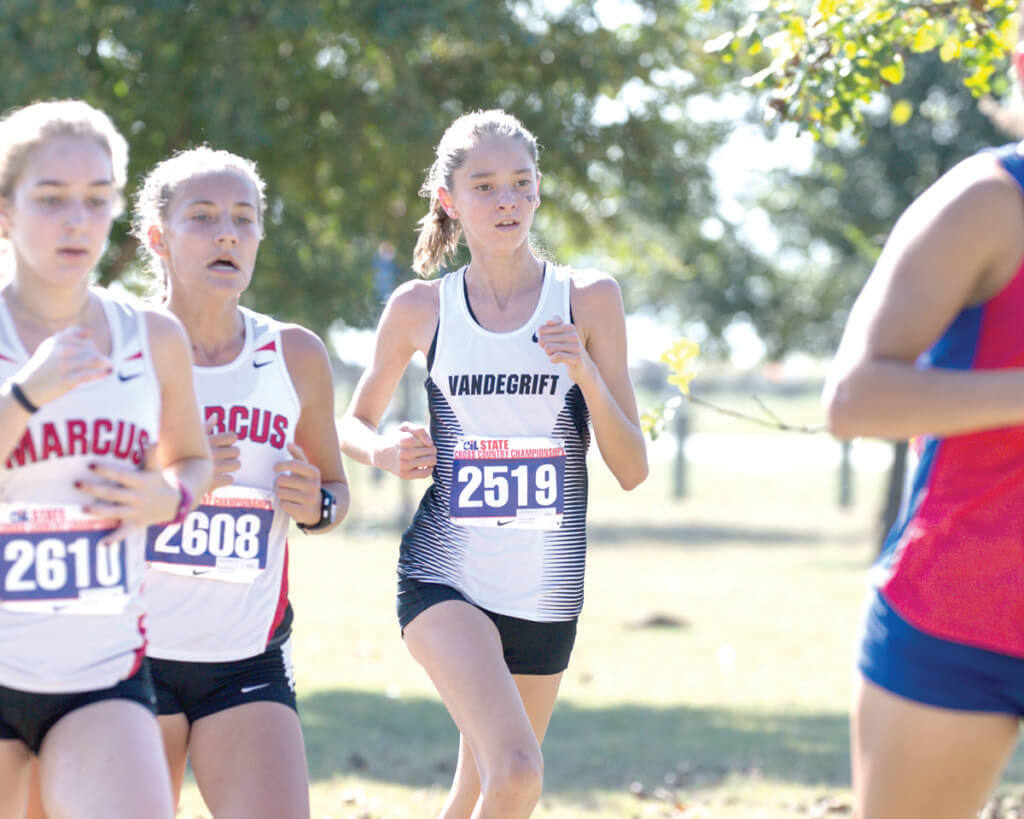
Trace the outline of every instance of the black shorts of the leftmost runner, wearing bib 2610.
<instances>
[{"instance_id":1,"label":"black shorts of the leftmost runner, wearing bib 2610","mask_svg":"<svg viewBox=\"0 0 1024 819\"><path fill-rule=\"evenodd\" d=\"M70 694L34 694L0 686L0 739L20 739L39 753L46 733L73 710L104 699L130 699L151 712L157 710L148 660L134 675L110 688Z\"/></svg>"}]
</instances>

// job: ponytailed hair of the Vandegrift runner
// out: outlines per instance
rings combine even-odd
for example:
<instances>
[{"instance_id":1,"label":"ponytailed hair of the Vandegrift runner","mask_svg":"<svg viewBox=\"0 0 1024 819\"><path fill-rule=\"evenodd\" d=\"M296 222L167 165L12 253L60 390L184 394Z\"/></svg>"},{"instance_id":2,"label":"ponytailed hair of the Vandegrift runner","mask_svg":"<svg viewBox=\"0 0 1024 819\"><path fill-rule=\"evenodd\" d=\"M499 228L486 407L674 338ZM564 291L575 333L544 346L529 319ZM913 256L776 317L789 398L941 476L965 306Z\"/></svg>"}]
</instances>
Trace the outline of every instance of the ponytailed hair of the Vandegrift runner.
<instances>
[{"instance_id":1,"label":"ponytailed hair of the Vandegrift runner","mask_svg":"<svg viewBox=\"0 0 1024 819\"><path fill-rule=\"evenodd\" d=\"M451 258L459 247L462 227L449 216L437 197L438 187L451 190L455 172L469 152L485 136L505 136L522 142L538 167L537 137L511 114L500 109L474 111L453 122L437 144L434 164L427 171L420 196L430 200L427 214L420 219L420 235L413 251L413 269L424 278Z\"/></svg>"}]
</instances>

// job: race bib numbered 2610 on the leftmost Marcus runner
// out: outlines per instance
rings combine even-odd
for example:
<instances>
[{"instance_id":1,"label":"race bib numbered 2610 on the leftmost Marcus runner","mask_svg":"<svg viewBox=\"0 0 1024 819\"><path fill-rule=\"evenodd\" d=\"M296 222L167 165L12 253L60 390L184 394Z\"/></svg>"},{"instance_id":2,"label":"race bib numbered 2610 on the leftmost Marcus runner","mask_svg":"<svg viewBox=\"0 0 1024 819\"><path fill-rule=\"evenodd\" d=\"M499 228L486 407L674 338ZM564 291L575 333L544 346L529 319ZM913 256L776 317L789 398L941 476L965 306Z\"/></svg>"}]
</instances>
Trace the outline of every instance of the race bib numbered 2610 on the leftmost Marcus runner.
<instances>
[{"instance_id":1,"label":"race bib numbered 2610 on the leftmost Marcus runner","mask_svg":"<svg viewBox=\"0 0 1024 819\"><path fill-rule=\"evenodd\" d=\"M80 506L0 504L0 605L46 614L117 614L130 595L125 544L100 546L115 518Z\"/></svg>"}]
</instances>

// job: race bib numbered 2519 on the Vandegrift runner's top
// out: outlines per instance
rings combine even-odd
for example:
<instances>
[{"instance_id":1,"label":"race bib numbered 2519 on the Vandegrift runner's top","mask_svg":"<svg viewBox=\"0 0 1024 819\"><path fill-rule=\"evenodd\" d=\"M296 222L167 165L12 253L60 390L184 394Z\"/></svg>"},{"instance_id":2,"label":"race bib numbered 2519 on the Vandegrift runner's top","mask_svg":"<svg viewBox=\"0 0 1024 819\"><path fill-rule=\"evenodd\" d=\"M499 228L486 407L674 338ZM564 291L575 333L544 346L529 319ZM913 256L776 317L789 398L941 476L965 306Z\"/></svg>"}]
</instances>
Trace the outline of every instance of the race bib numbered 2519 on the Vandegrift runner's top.
<instances>
[{"instance_id":1,"label":"race bib numbered 2519 on the Vandegrift runner's top","mask_svg":"<svg viewBox=\"0 0 1024 819\"><path fill-rule=\"evenodd\" d=\"M449 514L461 526L557 529L564 481L564 440L466 436L452 458Z\"/></svg>"}]
</instances>

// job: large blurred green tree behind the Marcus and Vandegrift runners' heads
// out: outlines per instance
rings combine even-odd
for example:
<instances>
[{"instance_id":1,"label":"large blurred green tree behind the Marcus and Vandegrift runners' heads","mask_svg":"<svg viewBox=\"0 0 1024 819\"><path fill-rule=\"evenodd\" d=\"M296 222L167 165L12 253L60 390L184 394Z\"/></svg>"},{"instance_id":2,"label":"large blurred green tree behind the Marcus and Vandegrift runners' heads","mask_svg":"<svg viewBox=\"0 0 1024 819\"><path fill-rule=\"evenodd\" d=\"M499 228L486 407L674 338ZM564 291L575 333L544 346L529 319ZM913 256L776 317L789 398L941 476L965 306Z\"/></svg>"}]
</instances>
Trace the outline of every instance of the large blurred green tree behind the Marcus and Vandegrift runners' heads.
<instances>
[{"instance_id":1,"label":"large blurred green tree behind the Marcus and Vandegrift runners' heads","mask_svg":"<svg viewBox=\"0 0 1024 819\"><path fill-rule=\"evenodd\" d=\"M322 332L366 326L391 276L411 274L433 146L474 107L516 113L543 143L539 227L554 255L640 276L695 255L691 225L716 210L708 157L726 129L688 104L725 75L695 8L626 10L609 21L584 0L557 12L513 0L8 0L0 101L98 104L129 136L133 178L201 142L252 157L270 206L247 301ZM112 245L102 278L131 283L123 225Z\"/></svg>"}]
</instances>

